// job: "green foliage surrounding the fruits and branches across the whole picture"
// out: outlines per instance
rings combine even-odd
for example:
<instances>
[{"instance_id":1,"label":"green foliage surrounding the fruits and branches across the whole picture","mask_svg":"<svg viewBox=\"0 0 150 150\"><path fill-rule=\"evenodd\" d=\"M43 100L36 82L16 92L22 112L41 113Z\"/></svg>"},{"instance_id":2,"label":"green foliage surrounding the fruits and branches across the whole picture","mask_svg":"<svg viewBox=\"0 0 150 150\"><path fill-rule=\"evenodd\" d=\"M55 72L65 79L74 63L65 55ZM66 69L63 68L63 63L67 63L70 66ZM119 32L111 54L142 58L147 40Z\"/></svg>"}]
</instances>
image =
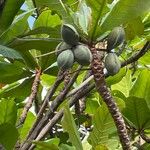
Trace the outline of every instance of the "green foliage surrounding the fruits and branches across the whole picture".
<instances>
[{"instance_id":1,"label":"green foliage surrounding the fruits and branches across the whole picture","mask_svg":"<svg viewBox=\"0 0 150 150\"><path fill-rule=\"evenodd\" d=\"M125 46L119 57L122 62L135 56L150 40L149 0L6 0L0 2L0 8L0 144L6 150L17 149L26 140L37 121L45 93L57 84L59 69L53 51L62 41L62 23L74 25L85 43L102 42L114 27L122 25L126 32ZM118 52L121 47L114 51ZM125 63L117 75L106 78L128 126L132 145L144 150L150 149L147 137L150 133L149 49L150 46L138 60ZM71 71L77 67L75 64ZM37 70L41 70L41 75L35 102L25 122L18 126L20 114L33 92ZM80 71L67 92L82 85L87 72ZM92 83L93 80L89 82ZM50 104L60 97L64 86L62 82L55 89ZM53 114L56 118L62 116L59 112L63 109L62 120L55 122L44 137L31 140L35 149L121 149L111 115L95 89L85 94L86 109L81 114L68 106L67 101L75 94L66 99L65 96ZM47 111L48 107L43 113Z\"/></svg>"}]
</instances>

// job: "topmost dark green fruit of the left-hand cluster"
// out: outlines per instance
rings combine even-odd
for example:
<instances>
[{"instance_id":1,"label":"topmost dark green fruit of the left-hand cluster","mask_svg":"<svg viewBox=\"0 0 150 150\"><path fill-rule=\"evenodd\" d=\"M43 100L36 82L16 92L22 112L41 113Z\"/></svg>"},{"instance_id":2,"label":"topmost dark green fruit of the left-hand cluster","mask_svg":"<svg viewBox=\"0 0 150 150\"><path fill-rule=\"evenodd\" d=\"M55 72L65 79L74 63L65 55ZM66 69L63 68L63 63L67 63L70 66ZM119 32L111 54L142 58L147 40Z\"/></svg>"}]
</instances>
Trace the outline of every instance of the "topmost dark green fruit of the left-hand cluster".
<instances>
[{"instance_id":1,"label":"topmost dark green fruit of the left-hand cluster","mask_svg":"<svg viewBox=\"0 0 150 150\"><path fill-rule=\"evenodd\" d=\"M75 46L79 42L79 34L70 24L64 24L62 26L61 35L63 40L69 45Z\"/></svg>"}]
</instances>

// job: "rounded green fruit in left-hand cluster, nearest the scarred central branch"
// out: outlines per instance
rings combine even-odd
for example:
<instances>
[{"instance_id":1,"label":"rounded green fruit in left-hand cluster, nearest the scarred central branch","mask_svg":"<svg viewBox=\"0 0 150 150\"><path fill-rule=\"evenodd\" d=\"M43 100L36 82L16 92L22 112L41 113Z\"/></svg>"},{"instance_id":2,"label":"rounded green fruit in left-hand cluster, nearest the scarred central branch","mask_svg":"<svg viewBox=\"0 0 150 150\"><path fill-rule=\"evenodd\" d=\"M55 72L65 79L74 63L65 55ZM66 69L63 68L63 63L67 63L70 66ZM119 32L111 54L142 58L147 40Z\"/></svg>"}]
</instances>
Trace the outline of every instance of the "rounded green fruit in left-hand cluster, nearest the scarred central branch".
<instances>
[{"instance_id":1,"label":"rounded green fruit in left-hand cluster, nearest the scarred central branch","mask_svg":"<svg viewBox=\"0 0 150 150\"><path fill-rule=\"evenodd\" d=\"M92 61L92 54L91 51L87 46L78 45L75 49L73 49L75 60L80 65L89 65Z\"/></svg>"}]
</instances>

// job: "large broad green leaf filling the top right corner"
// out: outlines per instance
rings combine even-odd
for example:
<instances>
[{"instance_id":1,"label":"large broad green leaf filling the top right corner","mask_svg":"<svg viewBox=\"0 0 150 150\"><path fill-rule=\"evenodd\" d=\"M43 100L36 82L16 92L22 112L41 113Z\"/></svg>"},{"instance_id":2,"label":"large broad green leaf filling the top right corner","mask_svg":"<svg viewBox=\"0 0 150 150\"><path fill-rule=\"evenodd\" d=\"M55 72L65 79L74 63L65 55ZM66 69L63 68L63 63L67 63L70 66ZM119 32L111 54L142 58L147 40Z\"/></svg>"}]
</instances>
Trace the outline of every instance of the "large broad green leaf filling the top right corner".
<instances>
[{"instance_id":1,"label":"large broad green leaf filling the top right corner","mask_svg":"<svg viewBox=\"0 0 150 150\"><path fill-rule=\"evenodd\" d=\"M105 32L120 24L132 21L144 12L148 12L149 6L149 0L120 0L116 2L101 24L102 31Z\"/></svg>"}]
</instances>

